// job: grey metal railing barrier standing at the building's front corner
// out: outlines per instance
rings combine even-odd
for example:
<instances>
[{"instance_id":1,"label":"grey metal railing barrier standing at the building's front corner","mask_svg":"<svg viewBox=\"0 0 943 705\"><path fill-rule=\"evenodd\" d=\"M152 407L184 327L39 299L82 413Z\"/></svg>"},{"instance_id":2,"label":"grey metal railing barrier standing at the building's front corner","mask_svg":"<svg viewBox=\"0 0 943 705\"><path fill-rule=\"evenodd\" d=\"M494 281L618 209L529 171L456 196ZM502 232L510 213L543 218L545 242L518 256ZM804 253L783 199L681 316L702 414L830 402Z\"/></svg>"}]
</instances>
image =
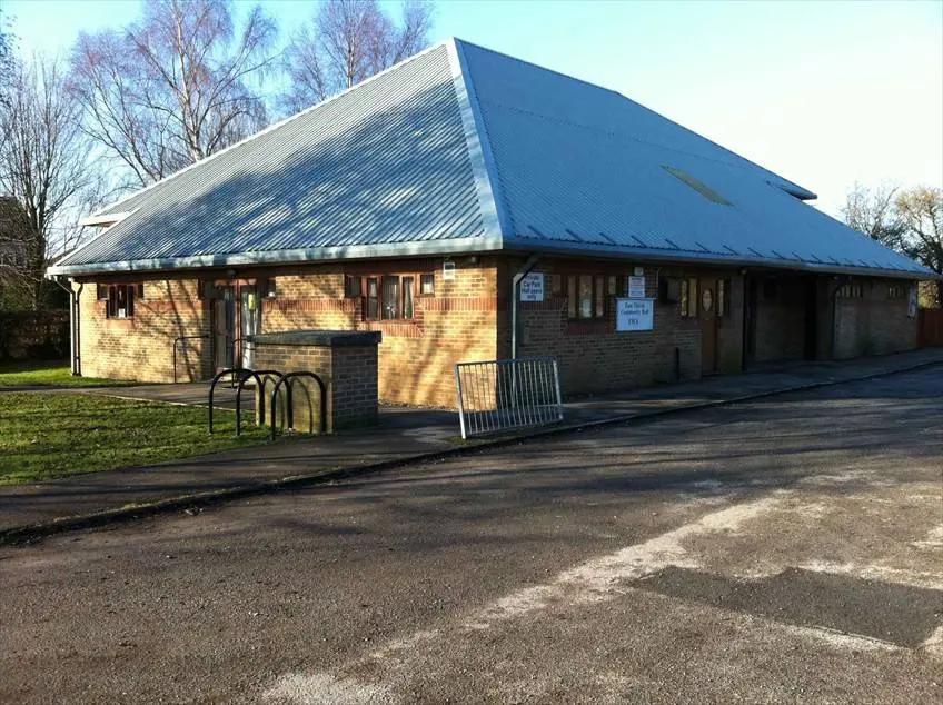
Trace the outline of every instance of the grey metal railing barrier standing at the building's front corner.
<instances>
[{"instance_id":1,"label":"grey metal railing barrier standing at the building's front corner","mask_svg":"<svg viewBox=\"0 0 943 705\"><path fill-rule=\"evenodd\" d=\"M463 438L563 420L556 358L458 363L455 380Z\"/></svg>"}]
</instances>

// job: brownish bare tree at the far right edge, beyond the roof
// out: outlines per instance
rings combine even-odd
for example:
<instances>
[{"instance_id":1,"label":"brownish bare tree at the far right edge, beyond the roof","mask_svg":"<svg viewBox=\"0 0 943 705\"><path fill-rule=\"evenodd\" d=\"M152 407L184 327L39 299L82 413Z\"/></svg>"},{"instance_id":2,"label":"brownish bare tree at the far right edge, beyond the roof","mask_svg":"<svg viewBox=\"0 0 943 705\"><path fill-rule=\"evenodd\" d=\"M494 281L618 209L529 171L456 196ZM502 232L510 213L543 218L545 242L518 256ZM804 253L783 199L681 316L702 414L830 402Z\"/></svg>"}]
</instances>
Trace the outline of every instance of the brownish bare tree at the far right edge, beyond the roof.
<instances>
[{"instance_id":1,"label":"brownish bare tree at the far right edge, beyond the roof","mask_svg":"<svg viewBox=\"0 0 943 705\"><path fill-rule=\"evenodd\" d=\"M895 208L904 224L901 250L943 276L943 189L917 186L897 193ZM943 280L936 280L936 301L943 304Z\"/></svg>"}]
</instances>

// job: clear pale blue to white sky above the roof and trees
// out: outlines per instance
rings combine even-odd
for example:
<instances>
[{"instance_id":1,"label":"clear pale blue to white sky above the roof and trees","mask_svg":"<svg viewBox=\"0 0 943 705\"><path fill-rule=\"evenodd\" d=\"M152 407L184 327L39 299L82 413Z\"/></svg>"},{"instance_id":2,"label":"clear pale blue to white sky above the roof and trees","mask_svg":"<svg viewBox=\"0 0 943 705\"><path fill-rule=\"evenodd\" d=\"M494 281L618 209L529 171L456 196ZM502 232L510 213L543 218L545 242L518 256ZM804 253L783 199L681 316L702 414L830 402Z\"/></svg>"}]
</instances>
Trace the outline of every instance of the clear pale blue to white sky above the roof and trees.
<instances>
[{"instance_id":1,"label":"clear pale blue to white sky above the roof and trees","mask_svg":"<svg viewBox=\"0 0 943 705\"><path fill-rule=\"evenodd\" d=\"M282 31L316 7L262 4ZM68 51L78 31L138 12L132 0L0 7L26 52ZM440 1L433 39L450 34L615 89L831 214L855 181L943 186L943 0Z\"/></svg>"}]
</instances>

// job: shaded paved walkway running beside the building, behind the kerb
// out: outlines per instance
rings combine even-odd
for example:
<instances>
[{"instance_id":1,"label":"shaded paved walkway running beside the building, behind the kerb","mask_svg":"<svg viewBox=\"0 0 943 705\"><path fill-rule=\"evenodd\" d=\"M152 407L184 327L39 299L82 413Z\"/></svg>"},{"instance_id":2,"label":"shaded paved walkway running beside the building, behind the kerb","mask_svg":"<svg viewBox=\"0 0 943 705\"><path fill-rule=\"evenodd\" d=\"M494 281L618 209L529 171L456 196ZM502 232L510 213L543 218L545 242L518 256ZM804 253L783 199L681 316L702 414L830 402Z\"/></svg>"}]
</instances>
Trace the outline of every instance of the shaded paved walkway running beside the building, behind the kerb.
<instances>
[{"instance_id":1,"label":"shaded paved walkway running beside the building, behind the kerb","mask_svg":"<svg viewBox=\"0 0 943 705\"><path fill-rule=\"evenodd\" d=\"M585 398L566 405L565 424L572 426L645 417L934 364L943 364L943 349L916 350L846 363L768 366L746 375L709 377ZM206 385L149 385L75 391L206 404ZM221 395L221 406L229 405L230 395L231 391ZM451 450L463 445L466 444L459 438L455 413L384 408L380 424L369 430L295 438L149 467L80 475L39 485L2 487L0 529L320 470L403 460ZM199 453L199 448L193 448L193 453Z\"/></svg>"}]
</instances>

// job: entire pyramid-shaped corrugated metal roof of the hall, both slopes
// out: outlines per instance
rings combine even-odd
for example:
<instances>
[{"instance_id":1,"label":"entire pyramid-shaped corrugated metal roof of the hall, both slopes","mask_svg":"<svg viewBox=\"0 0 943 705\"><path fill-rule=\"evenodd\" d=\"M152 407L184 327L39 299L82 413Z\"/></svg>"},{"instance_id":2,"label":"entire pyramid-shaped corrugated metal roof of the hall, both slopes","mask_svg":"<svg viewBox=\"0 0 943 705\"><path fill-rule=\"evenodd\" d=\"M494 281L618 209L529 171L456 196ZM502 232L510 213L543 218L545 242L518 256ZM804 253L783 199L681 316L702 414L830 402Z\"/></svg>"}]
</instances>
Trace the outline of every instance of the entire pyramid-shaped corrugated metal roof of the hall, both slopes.
<instances>
[{"instance_id":1,"label":"entire pyramid-shaped corrugated metal roof of the hall, both slopes","mask_svg":"<svg viewBox=\"0 0 943 705\"><path fill-rule=\"evenodd\" d=\"M130 215L51 271L504 247L927 272L812 197L616 92L447 40L105 209Z\"/></svg>"}]
</instances>

